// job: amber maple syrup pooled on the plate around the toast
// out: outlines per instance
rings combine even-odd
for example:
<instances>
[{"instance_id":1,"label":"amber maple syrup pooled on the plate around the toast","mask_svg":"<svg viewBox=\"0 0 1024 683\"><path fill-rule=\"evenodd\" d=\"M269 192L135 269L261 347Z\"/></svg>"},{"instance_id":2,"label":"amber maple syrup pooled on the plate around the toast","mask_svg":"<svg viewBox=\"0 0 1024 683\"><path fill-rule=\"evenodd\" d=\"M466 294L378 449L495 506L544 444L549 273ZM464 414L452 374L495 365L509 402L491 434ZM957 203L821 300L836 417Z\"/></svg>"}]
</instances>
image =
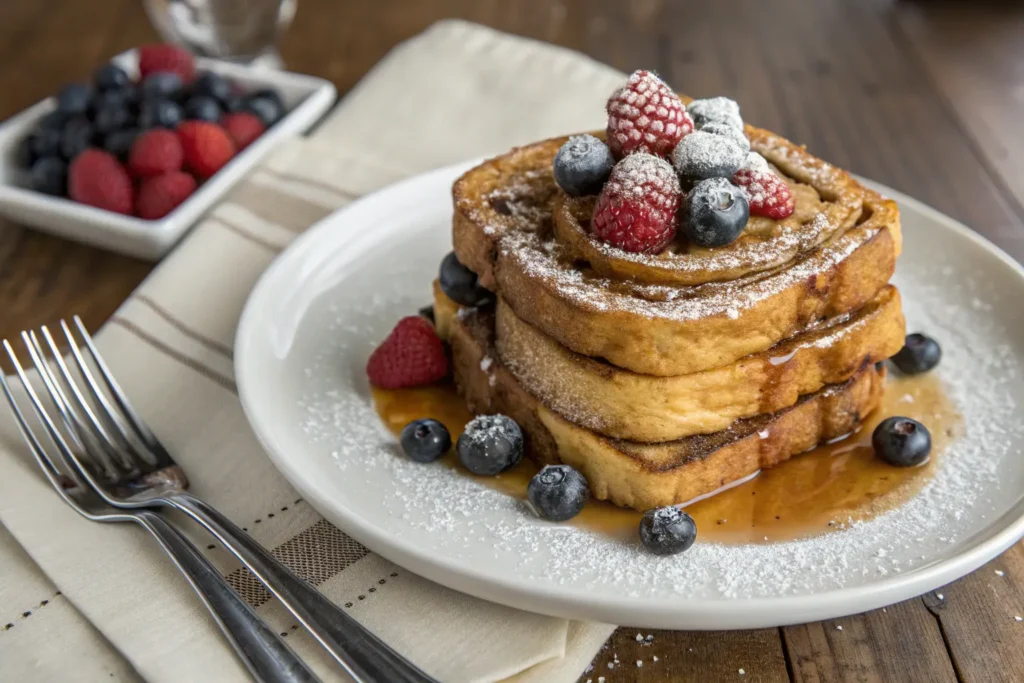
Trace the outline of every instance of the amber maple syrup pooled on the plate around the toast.
<instances>
[{"instance_id":1,"label":"amber maple syrup pooled on the plate around the toast","mask_svg":"<svg viewBox=\"0 0 1024 683\"><path fill-rule=\"evenodd\" d=\"M374 404L395 434L421 418L439 420L453 441L472 418L451 384L415 389L373 390ZM920 466L899 468L874 457L871 432L885 418L902 415L932 433L932 456ZM749 481L686 506L697 524L698 541L758 544L809 538L869 519L912 498L928 482L937 461L959 434L962 419L933 375L889 375L882 405L851 434L834 439ZM442 462L459 467L454 454ZM525 498L537 466L524 460L495 477L459 471L510 496ZM634 542L641 513L602 501L589 501L570 522Z\"/></svg>"}]
</instances>

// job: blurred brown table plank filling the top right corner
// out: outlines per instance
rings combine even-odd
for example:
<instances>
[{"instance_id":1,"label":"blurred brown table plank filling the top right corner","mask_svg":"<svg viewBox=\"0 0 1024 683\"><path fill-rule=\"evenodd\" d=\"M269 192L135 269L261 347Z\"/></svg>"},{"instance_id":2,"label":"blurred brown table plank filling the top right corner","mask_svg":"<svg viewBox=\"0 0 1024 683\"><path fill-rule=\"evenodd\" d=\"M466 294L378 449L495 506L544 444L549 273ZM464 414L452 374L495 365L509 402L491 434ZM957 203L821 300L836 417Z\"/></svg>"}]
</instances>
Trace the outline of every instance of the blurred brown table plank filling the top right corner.
<instances>
[{"instance_id":1,"label":"blurred brown table plank filling the top right corner","mask_svg":"<svg viewBox=\"0 0 1024 683\"><path fill-rule=\"evenodd\" d=\"M986 164L1024 206L1024 5L901 2L893 25Z\"/></svg>"}]
</instances>

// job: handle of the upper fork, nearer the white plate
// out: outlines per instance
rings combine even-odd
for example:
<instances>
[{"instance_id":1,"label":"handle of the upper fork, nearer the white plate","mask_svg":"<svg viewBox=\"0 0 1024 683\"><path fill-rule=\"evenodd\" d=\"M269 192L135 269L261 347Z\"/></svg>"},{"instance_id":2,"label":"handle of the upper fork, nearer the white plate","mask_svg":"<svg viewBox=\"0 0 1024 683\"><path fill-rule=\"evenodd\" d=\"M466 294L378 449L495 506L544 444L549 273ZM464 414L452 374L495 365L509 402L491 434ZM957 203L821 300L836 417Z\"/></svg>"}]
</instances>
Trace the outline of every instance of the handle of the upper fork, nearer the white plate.
<instances>
[{"instance_id":1,"label":"handle of the upper fork, nearer the white plate","mask_svg":"<svg viewBox=\"0 0 1024 683\"><path fill-rule=\"evenodd\" d=\"M195 519L231 551L356 681L437 683L296 577L213 507L185 492L163 500Z\"/></svg>"}]
</instances>

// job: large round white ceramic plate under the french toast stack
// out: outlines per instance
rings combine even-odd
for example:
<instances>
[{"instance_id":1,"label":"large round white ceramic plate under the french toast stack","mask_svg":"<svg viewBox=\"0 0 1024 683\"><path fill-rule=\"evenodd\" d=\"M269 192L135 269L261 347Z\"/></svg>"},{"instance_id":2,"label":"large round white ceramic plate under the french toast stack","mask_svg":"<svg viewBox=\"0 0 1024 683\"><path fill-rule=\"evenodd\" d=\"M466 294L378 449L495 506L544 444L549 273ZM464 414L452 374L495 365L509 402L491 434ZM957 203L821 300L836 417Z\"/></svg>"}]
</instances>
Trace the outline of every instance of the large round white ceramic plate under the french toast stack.
<instances>
[{"instance_id":1,"label":"large round white ceramic plate under the french toast stack","mask_svg":"<svg viewBox=\"0 0 1024 683\"><path fill-rule=\"evenodd\" d=\"M943 344L965 434L925 489L852 528L791 543L697 543L659 558L540 521L520 503L396 454L364 374L394 322L430 300L451 249L445 168L388 187L296 241L252 293L236 347L246 413L307 501L371 550L487 600L636 627L745 629L861 612L933 590L1024 535L1022 269L891 190L909 329Z\"/></svg>"}]
</instances>

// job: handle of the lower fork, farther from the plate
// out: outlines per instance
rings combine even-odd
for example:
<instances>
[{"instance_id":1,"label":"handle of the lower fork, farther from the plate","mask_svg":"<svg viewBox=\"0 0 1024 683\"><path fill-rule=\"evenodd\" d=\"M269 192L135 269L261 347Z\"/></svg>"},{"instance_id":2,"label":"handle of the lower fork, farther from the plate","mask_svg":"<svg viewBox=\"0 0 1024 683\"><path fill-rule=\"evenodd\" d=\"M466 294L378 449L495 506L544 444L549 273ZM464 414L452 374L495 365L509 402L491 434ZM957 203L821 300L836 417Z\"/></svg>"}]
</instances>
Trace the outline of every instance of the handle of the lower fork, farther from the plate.
<instances>
[{"instance_id":1,"label":"handle of the lower fork, farther from the plate","mask_svg":"<svg viewBox=\"0 0 1024 683\"><path fill-rule=\"evenodd\" d=\"M138 511L136 519L191 584L253 679L260 683L319 681L188 539L154 512Z\"/></svg>"}]
</instances>

